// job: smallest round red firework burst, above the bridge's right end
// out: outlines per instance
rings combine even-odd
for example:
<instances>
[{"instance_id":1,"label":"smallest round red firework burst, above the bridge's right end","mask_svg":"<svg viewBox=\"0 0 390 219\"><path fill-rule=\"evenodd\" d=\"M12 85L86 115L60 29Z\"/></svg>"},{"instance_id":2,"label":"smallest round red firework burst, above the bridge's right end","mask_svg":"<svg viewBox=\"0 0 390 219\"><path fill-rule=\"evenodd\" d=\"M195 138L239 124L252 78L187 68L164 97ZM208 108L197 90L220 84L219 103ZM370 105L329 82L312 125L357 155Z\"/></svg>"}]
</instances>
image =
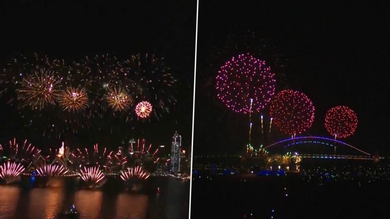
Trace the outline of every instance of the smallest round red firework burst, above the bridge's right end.
<instances>
[{"instance_id":1,"label":"smallest round red firework burst, above the bridge's right end","mask_svg":"<svg viewBox=\"0 0 390 219\"><path fill-rule=\"evenodd\" d=\"M336 106L325 115L325 128L335 138L347 138L354 134L357 127L358 117L349 107Z\"/></svg>"}]
</instances>

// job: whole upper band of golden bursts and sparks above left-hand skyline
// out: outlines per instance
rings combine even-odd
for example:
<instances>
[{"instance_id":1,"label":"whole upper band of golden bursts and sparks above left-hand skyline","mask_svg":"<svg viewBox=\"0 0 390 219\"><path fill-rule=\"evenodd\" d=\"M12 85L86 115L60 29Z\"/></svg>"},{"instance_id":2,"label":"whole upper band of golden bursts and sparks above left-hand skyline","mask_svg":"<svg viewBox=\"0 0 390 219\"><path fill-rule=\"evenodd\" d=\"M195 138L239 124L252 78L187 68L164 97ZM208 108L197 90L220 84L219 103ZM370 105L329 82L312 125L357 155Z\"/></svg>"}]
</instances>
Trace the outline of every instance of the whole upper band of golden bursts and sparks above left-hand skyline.
<instances>
[{"instance_id":1,"label":"whole upper band of golden bursts and sparks above left-hand skyline","mask_svg":"<svg viewBox=\"0 0 390 219\"><path fill-rule=\"evenodd\" d=\"M150 54L67 61L21 55L0 73L0 95L15 107L25 129L44 137L61 139L87 130L112 134L127 121L169 113L176 104L170 71L164 58ZM133 103L140 102L136 109Z\"/></svg>"}]
</instances>

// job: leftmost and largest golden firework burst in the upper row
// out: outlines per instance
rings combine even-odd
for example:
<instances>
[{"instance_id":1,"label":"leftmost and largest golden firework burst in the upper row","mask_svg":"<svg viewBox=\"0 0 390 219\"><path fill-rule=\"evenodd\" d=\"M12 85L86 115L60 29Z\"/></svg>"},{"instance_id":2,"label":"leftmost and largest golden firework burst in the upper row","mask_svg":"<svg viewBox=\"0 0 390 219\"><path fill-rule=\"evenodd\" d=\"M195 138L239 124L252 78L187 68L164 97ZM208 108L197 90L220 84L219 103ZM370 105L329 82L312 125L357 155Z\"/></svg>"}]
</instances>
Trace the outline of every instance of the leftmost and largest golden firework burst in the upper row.
<instances>
[{"instance_id":1,"label":"leftmost and largest golden firework burst in the upper row","mask_svg":"<svg viewBox=\"0 0 390 219\"><path fill-rule=\"evenodd\" d=\"M46 105L54 105L56 97L60 94L61 79L55 72L41 69L29 74L20 82L16 89L17 98L22 106L31 106L33 109L43 109Z\"/></svg>"}]
</instances>

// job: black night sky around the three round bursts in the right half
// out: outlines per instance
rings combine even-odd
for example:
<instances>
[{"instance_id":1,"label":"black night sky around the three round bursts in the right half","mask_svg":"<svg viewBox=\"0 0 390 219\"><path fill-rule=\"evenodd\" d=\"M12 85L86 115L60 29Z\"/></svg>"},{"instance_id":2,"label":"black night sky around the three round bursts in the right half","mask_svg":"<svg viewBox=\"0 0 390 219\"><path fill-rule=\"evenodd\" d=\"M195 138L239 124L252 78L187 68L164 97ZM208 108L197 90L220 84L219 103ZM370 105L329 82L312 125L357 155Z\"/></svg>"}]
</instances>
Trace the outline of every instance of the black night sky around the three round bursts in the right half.
<instances>
[{"instance_id":1,"label":"black night sky around the three round bursts in the right half","mask_svg":"<svg viewBox=\"0 0 390 219\"><path fill-rule=\"evenodd\" d=\"M209 78L217 69L209 65L228 59L210 63L210 51L222 51L228 34L248 29L277 47L287 59L289 87L313 101L315 121L307 135L329 136L326 111L346 105L359 124L345 142L389 154L389 12L387 1L200 1L194 155L233 154L247 144L248 118L213 97L215 83Z\"/></svg>"}]
</instances>

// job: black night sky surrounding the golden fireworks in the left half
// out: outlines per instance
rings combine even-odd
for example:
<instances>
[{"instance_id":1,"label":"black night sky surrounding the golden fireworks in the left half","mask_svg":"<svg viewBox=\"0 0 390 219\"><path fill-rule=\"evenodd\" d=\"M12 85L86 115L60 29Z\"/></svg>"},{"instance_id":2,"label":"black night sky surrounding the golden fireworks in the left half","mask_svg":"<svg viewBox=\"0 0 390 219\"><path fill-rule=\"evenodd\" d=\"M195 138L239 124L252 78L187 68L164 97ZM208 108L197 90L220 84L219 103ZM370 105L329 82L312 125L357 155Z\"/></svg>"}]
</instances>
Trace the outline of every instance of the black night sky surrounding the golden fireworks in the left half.
<instances>
[{"instance_id":1,"label":"black night sky surrounding the golden fireworks in the left half","mask_svg":"<svg viewBox=\"0 0 390 219\"><path fill-rule=\"evenodd\" d=\"M120 59L138 52L164 57L178 79L178 105L161 121L143 124L139 132L142 135L134 137L170 145L178 131L183 146L191 146L195 0L6 2L0 3L1 68L13 54L30 51L68 60L96 53L110 53ZM24 133L13 122L3 111L1 140L13 136L24 138L24 134L28 139L41 138L39 133Z\"/></svg>"}]
</instances>

